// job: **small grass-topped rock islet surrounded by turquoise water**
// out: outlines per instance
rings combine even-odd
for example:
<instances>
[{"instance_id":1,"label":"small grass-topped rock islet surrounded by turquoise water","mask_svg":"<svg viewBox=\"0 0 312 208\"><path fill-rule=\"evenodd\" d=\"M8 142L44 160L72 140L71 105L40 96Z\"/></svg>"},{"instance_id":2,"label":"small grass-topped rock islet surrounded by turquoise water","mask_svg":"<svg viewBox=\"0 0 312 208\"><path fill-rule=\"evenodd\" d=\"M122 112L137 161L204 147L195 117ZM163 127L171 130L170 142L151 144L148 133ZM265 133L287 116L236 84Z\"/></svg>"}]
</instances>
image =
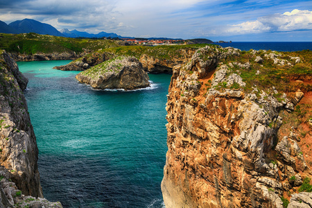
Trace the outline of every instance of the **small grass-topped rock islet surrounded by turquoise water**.
<instances>
[{"instance_id":1,"label":"small grass-topped rock islet surrounded by turquoise water","mask_svg":"<svg viewBox=\"0 0 312 208\"><path fill-rule=\"evenodd\" d=\"M141 62L133 57L117 57L78 73L80 83L95 89L139 89L150 86Z\"/></svg>"}]
</instances>

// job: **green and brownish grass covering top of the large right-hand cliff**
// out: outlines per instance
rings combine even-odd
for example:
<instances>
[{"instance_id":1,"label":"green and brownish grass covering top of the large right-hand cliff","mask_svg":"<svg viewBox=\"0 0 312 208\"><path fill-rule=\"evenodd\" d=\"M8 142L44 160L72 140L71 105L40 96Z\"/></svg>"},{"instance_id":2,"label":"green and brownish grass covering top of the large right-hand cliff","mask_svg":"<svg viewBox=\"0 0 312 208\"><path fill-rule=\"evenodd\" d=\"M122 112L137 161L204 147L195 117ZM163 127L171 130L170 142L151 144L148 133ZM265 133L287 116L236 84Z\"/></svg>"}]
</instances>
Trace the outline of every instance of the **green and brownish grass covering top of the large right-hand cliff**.
<instances>
[{"instance_id":1,"label":"green and brownish grass covering top of the large right-hand cliff","mask_svg":"<svg viewBox=\"0 0 312 208\"><path fill-rule=\"evenodd\" d=\"M240 76L246 83L245 90L252 91L252 87L257 85L259 89L267 91L268 86L275 86L278 92L294 92L299 87L302 91L311 91L311 85L300 85L297 83L291 83L291 79L294 76L312 76L312 51L304 50L297 52L279 52L281 56L277 59L284 60L285 64L274 63L272 58L266 57L266 54L272 53L272 51L258 51L255 55L260 56L263 59L263 63L259 64L255 62L254 54L251 51L242 51L240 55L232 55L223 60L224 64L229 65L232 62L239 62L244 64L250 63L250 67L239 67L234 65L232 67L232 73L239 71ZM295 59L291 57L299 57L300 62L295 63ZM233 88L238 86L233 86ZM307 89L307 87L309 89ZM280 98L281 94L276 94L275 97Z\"/></svg>"}]
</instances>

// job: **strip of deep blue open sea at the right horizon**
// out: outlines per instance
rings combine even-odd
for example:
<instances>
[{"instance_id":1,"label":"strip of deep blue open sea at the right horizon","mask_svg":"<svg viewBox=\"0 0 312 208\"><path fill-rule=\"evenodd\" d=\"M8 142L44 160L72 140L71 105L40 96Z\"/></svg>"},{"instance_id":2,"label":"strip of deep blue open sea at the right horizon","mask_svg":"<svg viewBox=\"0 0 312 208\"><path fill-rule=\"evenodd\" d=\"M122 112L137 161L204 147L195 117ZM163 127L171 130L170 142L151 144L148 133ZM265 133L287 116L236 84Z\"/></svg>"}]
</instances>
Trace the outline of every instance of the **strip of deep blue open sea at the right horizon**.
<instances>
[{"instance_id":1,"label":"strip of deep blue open sea at the right horizon","mask_svg":"<svg viewBox=\"0 0 312 208\"><path fill-rule=\"evenodd\" d=\"M231 46L242 51L272 50L272 51L302 51L309 49L312 51L312 42L232 42L218 43L218 45Z\"/></svg>"}]
</instances>

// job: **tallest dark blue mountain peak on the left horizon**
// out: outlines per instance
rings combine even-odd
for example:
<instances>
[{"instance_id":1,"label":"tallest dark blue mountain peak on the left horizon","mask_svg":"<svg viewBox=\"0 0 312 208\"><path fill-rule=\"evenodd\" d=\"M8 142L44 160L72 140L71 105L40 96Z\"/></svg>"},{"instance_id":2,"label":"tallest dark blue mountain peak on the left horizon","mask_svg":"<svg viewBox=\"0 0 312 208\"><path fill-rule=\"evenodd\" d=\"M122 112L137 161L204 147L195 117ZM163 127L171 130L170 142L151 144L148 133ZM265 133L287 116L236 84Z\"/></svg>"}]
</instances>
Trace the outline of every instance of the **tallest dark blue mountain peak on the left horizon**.
<instances>
[{"instance_id":1,"label":"tallest dark blue mountain peak on the left horizon","mask_svg":"<svg viewBox=\"0 0 312 208\"><path fill-rule=\"evenodd\" d=\"M54 35L64 37L64 35L53 26L33 19L13 21L9 24L9 26L15 28L18 33L37 33L40 35Z\"/></svg>"}]
</instances>

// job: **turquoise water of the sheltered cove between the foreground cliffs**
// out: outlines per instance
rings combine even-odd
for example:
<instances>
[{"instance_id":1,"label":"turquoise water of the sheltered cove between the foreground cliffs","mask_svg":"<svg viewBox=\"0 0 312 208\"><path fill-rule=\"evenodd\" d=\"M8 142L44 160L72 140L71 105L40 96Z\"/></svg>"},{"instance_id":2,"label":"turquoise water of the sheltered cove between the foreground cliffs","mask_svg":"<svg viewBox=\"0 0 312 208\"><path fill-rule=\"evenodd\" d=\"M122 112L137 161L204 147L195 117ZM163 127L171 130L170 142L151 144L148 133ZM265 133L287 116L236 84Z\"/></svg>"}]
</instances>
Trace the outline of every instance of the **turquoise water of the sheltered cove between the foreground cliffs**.
<instances>
[{"instance_id":1,"label":"turquoise water of the sheltered cove between the foreground cliffs","mask_svg":"<svg viewBox=\"0 0 312 208\"><path fill-rule=\"evenodd\" d=\"M18 62L37 137L44 197L64 207L162 207L166 94L171 75L152 87L95 91L69 61Z\"/></svg>"}]
</instances>

